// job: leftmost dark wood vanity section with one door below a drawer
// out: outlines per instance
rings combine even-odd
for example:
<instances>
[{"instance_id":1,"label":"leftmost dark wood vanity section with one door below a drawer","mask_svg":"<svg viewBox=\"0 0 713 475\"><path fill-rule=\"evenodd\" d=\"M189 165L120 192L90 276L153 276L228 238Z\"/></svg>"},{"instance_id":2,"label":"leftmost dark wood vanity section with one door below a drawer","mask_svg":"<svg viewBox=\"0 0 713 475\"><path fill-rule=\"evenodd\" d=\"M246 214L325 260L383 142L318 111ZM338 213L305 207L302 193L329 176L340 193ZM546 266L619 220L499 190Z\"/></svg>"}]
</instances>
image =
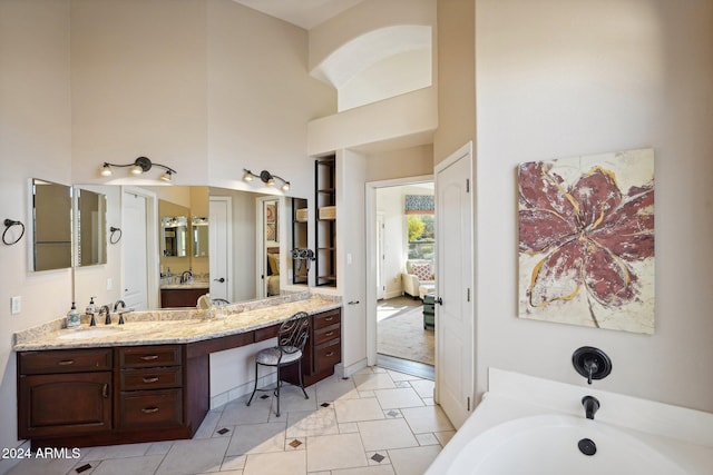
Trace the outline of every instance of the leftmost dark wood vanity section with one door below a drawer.
<instances>
[{"instance_id":1,"label":"leftmost dark wood vanity section with one door below a drawer","mask_svg":"<svg viewBox=\"0 0 713 475\"><path fill-rule=\"evenodd\" d=\"M18 354L18 437L111 431L110 348Z\"/></svg>"}]
</instances>

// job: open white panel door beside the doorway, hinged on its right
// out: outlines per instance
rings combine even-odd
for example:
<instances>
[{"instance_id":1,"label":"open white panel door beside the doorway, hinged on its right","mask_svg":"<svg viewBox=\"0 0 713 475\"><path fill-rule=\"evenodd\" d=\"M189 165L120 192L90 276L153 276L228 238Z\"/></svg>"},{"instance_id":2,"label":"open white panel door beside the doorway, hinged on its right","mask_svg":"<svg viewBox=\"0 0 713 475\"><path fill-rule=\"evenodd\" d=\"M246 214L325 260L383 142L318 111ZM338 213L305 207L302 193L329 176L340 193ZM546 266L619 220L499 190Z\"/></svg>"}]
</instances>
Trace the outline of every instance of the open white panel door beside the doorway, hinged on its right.
<instances>
[{"instance_id":1,"label":"open white panel door beside the doorway, hinged on its right","mask_svg":"<svg viewBox=\"0 0 713 475\"><path fill-rule=\"evenodd\" d=\"M438 403L460 427L470 414L473 393L472 194L471 154L467 146L436 170L436 305Z\"/></svg>"}]
</instances>

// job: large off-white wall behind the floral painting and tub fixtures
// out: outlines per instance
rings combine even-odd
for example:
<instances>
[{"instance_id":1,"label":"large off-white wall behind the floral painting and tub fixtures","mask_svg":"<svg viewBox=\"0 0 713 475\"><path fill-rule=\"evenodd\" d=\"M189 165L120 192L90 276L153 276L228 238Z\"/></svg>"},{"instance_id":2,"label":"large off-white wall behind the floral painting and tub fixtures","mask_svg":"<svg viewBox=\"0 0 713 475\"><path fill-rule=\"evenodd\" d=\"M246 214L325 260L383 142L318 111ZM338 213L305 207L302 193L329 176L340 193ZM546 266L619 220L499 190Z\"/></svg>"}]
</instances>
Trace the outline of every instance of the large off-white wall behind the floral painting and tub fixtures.
<instances>
[{"instance_id":1,"label":"large off-white wall behind the floral painting and tub fixtures","mask_svg":"<svg viewBox=\"0 0 713 475\"><path fill-rule=\"evenodd\" d=\"M713 3L477 0L477 390L488 367L583 384L579 346L608 353L607 390L713 410ZM653 147L653 336L517 318L515 168Z\"/></svg>"}]
</instances>

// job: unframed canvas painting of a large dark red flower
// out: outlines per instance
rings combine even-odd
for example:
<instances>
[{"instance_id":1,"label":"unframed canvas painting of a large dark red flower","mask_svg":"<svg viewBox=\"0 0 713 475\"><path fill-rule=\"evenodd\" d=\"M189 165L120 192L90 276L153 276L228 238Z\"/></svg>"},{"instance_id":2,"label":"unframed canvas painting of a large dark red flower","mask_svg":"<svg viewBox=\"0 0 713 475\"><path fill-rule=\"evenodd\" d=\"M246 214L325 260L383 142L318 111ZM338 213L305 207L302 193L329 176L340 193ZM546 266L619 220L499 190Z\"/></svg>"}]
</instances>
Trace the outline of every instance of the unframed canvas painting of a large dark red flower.
<instances>
[{"instance_id":1,"label":"unframed canvas painting of a large dark red flower","mask_svg":"<svg viewBox=\"0 0 713 475\"><path fill-rule=\"evenodd\" d=\"M654 151L518 167L519 316L654 333Z\"/></svg>"}]
</instances>

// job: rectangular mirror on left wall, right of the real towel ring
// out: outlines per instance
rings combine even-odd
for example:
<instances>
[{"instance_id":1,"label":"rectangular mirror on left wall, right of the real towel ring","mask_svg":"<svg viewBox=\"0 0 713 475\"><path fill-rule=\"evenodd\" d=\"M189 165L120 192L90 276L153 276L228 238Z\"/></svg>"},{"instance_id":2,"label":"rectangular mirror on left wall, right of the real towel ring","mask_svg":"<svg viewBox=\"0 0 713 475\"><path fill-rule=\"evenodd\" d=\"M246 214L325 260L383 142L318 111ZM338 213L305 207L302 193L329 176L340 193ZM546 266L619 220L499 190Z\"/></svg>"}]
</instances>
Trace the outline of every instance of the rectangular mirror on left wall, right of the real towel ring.
<instances>
[{"instance_id":1,"label":"rectangular mirror on left wall, right of the real towel ring","mask_svg":"<svg viewBox=\"0 0 713 475\"><path fill-rule=\"evenodd\" d=\"M32 179L32 270L71 267L72 188Z\"/></svg>"}]
</instances>

